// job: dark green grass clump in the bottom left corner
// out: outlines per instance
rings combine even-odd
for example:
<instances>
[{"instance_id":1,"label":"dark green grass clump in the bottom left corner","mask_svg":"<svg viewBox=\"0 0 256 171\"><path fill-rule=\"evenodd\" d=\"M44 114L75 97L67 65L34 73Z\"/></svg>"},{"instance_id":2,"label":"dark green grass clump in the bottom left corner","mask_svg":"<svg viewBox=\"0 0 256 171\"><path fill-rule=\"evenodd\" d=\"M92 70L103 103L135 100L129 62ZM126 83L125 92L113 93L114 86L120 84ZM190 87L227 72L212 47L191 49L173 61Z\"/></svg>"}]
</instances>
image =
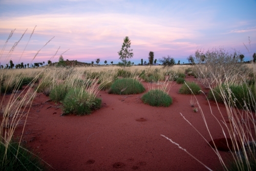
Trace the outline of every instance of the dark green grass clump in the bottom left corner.
<instances>
[{"instance_id":1,"label":"dark green grass clump in the bottom left corner","mask_svg":"<svg viewBox=\"0 0 256 171\"><path fill-rule=\"evenodd\" d=\"M10 143L6 155L5 150L5 145L0 142L0 170L46 170L38 158L19 147L18 143Z\"/></svg>"}]
</instances>

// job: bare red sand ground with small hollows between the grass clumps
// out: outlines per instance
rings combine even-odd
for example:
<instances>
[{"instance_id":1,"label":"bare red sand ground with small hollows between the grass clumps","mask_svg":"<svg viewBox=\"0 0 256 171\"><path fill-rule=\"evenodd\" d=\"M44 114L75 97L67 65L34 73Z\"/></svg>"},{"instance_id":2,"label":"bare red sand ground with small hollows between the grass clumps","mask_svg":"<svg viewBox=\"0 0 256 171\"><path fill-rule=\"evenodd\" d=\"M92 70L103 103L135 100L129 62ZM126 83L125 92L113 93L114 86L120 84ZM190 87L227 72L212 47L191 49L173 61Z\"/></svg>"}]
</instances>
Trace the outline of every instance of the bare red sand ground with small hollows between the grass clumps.
<instances>
[{"instance_id":1,"label":"bare red sand ground with small hollows between the grass clumps","mask_svg":"<svg viewBox=\"0 0 256 171\"><path fill-rule=\"evenodd\" d=\"M194 80L187 77L186 80ZM147 83L142 82L147 88ZM164 137L172 139L211 169L222 168L214 150L182 115L210 141L200 112L189 104L191 95L178 93L172 84L168 108L143 104L141 96L113 95L100 91L102 108L87 116L60 116L60 104L38 93L23 135L23 142L56 170L206 170L198 161ZM207 91L204 90L203 91ZM214 139L223 138L218 122L210 114L206 97L196 96ZM210 101L218 118L217 105ZM226 109L220 104L220 110ZM198 105L196 106L198 108ZM224 118L228 121L228 118ZM20 135L22 129L17 130ZM230 152L220 152L224 159Z\"/></svg>"}]
</instances>

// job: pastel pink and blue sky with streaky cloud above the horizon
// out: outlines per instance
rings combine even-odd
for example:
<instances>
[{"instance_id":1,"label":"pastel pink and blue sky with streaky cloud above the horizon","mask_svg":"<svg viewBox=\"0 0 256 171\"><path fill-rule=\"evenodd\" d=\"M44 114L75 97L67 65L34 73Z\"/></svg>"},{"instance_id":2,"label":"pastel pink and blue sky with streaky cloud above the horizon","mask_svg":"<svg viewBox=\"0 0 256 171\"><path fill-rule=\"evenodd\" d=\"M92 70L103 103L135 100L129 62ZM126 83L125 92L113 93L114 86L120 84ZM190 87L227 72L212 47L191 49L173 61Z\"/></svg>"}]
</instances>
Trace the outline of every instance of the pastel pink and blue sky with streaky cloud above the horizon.
<instances>
[{"instance_id":1,"label":"pastel pink and blue sky with streaky cloud above the horizon","mask_svg":"<svg viewBox=\"0 0 256 171\"><path fill-rule=\"evenodd\" d=\"M135 64L148 61L150 51L186 63L197 49L219 47L247 61L256 52L255 9L255 0L0 0L0 62L55 62L68 50L65 60L117 63L125 36Z\"/></svg>"}]
</instances>

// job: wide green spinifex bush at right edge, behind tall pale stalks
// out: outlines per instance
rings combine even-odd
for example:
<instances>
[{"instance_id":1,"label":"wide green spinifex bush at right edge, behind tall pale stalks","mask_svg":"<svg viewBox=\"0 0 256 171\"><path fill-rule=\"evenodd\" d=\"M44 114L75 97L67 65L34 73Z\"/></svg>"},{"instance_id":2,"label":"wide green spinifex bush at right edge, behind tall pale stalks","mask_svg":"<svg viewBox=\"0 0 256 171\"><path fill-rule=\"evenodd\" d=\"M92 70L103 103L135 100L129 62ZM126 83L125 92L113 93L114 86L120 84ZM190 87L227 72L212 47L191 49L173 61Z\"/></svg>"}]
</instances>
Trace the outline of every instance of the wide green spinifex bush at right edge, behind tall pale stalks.
<instances>
[{"instance_id":1,"label":"wide green spinifex bush at right edge, behind tall pale stalks","mask_svg":"<svg viewBox=\"0 0 256 171\"><path fill-rule=\"evenodd\" d=\"M243 109L243 106L247 105L248 108L255 111L255 86L246 85L242 86L236 84L225 85L222 84L214 89L212 89L207 98L209 100L216 100L217 102L231 101L239 109Z\"/></svg>"}]
</instances>

